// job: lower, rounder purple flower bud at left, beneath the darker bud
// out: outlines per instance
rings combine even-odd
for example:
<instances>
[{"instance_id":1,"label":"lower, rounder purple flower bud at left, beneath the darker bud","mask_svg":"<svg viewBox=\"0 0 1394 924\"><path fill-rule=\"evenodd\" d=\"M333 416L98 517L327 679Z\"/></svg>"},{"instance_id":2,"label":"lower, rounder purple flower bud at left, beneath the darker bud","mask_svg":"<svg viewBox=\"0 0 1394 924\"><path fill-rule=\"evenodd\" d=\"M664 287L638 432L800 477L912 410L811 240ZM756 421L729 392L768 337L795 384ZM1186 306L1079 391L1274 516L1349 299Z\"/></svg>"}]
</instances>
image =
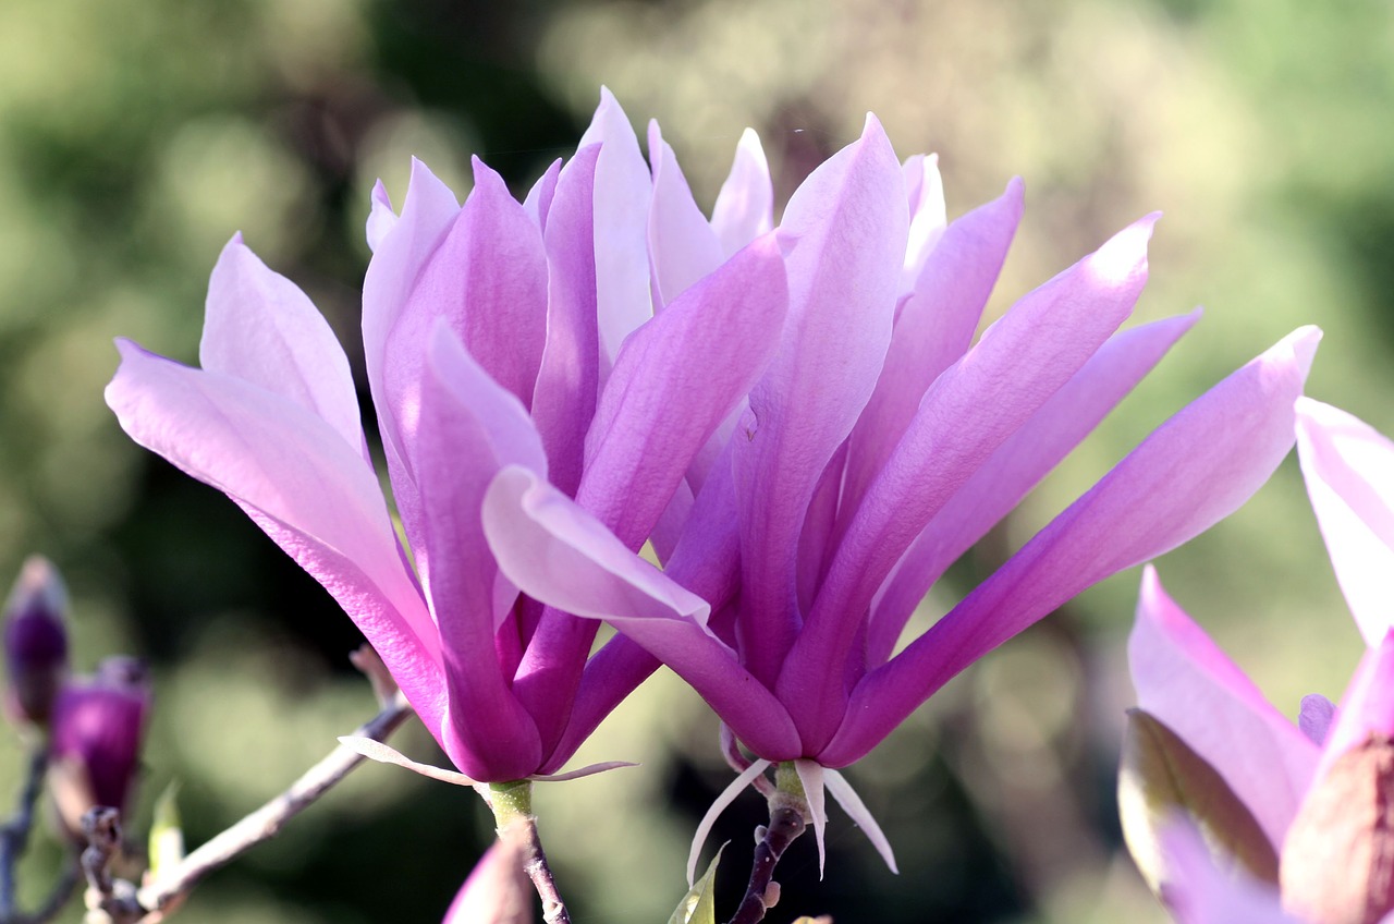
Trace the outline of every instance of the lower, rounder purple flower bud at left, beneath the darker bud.
<instances>
[{"instance_id":1,"label":"lower, rounder purple flower bud at left, beneath the darker bud","mask_svg":"<svg viewBox=\"0 0 1394 924\"><path fill-rule=\"evenodd\" d=\"M68 681L53 705L49 783L64 829L82 840L82 815L96 807L125 812L151 710L145 667L109 657L92 677Z\"/></svg>"}]
</instances>

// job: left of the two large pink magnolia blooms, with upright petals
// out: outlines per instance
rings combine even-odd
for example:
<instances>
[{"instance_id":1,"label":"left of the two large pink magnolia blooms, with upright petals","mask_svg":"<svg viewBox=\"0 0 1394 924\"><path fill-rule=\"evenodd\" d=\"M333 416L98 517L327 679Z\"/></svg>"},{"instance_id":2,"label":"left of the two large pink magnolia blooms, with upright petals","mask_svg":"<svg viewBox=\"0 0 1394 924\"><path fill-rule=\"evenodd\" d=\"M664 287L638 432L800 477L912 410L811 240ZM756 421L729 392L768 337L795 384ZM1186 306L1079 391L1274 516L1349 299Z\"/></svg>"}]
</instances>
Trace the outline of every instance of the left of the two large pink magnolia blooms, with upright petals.
<instances>
[{"instance_id":1,"label":"left of the two large pink magnolia blooms, with upright petals","mask_svg":"<svg viewBox=\"0 0 1394 924\"><path fill-rule=\"evenodd\" d=\"M238 237L209 282L202 368L118 345L106 396L125 431L323 583L478 782L553 773L647 676L588 659L594 621L499 572L489 480L520 466L640 549L783 325L758 145L743 142L710 223L657 126L650 148L652 169L604 94L523 202L478 161L463 207L421 163L400 215L375 190L362 339L406 544L343 349ZM689 248L698 232L710 246Z\"/></svg>"}]
</instances>

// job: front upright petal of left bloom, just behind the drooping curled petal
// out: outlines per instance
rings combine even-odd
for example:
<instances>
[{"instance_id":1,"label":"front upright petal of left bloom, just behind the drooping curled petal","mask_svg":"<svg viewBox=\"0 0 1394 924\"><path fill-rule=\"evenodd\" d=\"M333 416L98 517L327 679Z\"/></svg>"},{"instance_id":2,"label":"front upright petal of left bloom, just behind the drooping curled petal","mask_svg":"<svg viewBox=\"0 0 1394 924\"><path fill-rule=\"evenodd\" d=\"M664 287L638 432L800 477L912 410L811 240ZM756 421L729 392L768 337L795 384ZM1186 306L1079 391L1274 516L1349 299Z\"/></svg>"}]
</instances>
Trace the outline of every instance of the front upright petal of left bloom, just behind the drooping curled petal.
<instances>
[{"instance_id":1,"label":"front upright petal of left bloom, just behind the drooping curled petal","mask_svg":"<svg viewBox=\"0 0 1394 924\"><path fill-rule=\"evenodd\" d=\"M542 745L493 653L498 567L478 514L502 465L538 470L542 447L517 399L464 352L442 320L421 380L414 462L422 536L432 561L429 595L441 627L450 715L439 730L454 765L484 782L535 773Z\"/></svg>"}]
</instances>

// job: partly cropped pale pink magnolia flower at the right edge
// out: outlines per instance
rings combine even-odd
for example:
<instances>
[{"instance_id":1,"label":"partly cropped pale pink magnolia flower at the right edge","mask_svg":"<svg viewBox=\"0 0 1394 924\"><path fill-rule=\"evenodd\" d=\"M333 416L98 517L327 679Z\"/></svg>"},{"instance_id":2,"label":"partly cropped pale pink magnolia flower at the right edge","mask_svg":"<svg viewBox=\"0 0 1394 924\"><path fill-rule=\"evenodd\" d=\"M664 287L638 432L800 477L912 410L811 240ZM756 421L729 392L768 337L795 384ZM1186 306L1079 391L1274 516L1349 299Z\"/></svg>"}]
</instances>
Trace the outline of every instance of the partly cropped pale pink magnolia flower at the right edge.
<instances>
[{"instance_id":1,"label":"partly cropped pale pink magnolia flower at the right edge","mask_svg":"<svg viewBox=\"0 0 1394 924\"><path fill-rule=\"evenodd\" d=\"M1394 442L1306 398L1296 442L1369 646L1340 709L1310 695L1285 717L1143 576L1128 646L1139 706L1218 782L1182 780L1185 811L1154 811L1156 780L1125 759L1119 800L1133 857L1188 924L1394 923Z\"/></svg>"}]
</instances>

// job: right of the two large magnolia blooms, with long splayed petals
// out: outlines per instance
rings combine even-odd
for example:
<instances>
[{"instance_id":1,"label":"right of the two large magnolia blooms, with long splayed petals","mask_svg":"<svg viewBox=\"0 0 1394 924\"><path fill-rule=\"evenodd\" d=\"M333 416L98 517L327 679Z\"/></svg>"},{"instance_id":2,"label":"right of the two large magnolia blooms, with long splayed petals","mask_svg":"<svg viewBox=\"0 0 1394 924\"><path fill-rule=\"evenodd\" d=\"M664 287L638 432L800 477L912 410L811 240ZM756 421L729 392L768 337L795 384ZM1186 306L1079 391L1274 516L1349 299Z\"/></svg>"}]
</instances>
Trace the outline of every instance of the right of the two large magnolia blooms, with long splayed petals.
<instances>
[{"instance_id":1,"label":"right of the two large magnolia blooms, with long splayed petals","mask_svg":"<svg viewBox=\"0 0 1394 924\"><path fill-rule=\"evenodd\" d=\"M795 762L815 833L827 784L888 860L834 769L1085 588L1239 507L1292 445L1319 338L1295 332L1182 410L892 657L930 585L1197 317L1115 334L1146 279L1149 216L972 343L1020 201L1013 180L944 226L933 159L899 163L874 117L799 187L776 232L778 352L689 470L693 500L665 522L680 526L655 539L662 569L523 468L484 498L507 578L611 621L627 639L616 663L645 649L758 758L735 786Z\"/></svg>"}]
</instances>

